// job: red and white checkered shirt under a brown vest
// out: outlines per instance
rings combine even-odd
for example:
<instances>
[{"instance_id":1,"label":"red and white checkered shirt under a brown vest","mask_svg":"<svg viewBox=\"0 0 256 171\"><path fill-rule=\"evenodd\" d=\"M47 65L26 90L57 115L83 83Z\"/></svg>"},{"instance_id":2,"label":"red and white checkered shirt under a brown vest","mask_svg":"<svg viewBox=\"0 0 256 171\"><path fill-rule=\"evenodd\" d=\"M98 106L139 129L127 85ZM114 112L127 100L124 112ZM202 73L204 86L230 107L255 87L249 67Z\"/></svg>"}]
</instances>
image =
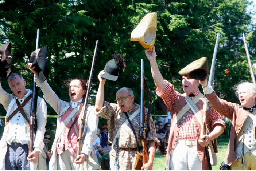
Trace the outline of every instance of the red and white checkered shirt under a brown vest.
<instances>
[{"instance_id":1,"label":"red and white checkered shirt under a brown vest","mask_svg":"<svg viewBox=\"0 0 256 171\"><path fill-rule=\"evenodd\" d=\"M159 97L163 98L164 103L166 104L168 109L172 111L178 92L174 90L174 86L171 83L169 83L167 80L164 80L164 82L166 83L164 92L161 93L157 88L156 93ZM200 91L198 89L197 92L194 93L194 95L195 96L198 95L199 92ZM187 96L189 96L189 94L187 94ZM193 99L194 97L190 97L190 98ZM221 118L221 115L217 111L215 111L212 107L210 107L208 113L210 114L212 129L214 128L215 124L221 124L224 127L224 129L226 128L225 123ZM194 113L190 109L184 122L181 125L178 138L198 139L197 132L195 130L195 123L193 121L192 115L194 115Z\"/></svg>"}]
</instances>

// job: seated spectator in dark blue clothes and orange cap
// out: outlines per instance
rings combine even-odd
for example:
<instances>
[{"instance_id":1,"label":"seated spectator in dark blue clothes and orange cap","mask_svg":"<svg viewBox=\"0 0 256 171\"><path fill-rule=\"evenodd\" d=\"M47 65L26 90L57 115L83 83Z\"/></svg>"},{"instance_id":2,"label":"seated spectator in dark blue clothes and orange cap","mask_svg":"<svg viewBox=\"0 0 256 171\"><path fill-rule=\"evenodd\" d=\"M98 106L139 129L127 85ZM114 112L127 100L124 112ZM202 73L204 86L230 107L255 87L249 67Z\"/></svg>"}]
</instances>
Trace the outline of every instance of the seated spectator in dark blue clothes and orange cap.
<instances>
[{"instance_id":1,"label":"seated spectator in dark blue clothes and orange cap","mask_svg":"<svg viewBox=\"0 0 256 171\"><path fill-rule=\"evenodd\" d=\"M108 141L108 126L104 125L101 128L101 146L104 149L101 155L109 154L111 150L111 143Z\"/></svg>"}]
</instances>

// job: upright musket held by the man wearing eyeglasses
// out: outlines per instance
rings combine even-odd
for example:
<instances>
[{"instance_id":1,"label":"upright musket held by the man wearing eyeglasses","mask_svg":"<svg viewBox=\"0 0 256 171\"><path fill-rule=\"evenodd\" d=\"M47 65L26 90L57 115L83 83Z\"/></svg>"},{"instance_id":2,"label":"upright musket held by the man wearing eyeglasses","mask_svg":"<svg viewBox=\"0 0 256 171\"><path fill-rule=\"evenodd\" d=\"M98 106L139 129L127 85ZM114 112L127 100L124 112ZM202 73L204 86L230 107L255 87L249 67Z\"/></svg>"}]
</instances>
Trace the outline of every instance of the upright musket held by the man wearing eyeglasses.
<instances>
[{"instance_id":1,"label":"upright musket held by the man wearing eyeglasses","mask_svg":"<svg viewBox=\"0 0 256 171\"><path fill-rule=\"evenodd\" d=\"M144 102L144 62L141 59L140 67L140 139L143 147L142 164L149 160L148 148L146 143L146 122L145 122L145 102Z\"/></svg>"}]
</instances>

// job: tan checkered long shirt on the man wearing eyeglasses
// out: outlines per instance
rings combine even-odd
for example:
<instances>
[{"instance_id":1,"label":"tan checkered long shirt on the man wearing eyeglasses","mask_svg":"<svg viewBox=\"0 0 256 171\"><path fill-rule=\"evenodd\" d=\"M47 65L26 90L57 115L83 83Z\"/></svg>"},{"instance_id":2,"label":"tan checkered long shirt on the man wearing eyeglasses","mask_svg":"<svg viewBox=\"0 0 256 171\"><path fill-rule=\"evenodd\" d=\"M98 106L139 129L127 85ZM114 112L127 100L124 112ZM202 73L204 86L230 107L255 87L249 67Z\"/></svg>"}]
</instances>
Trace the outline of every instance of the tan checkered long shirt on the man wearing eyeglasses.
<instances>
[{"instance_id":1,"label":"tan checkered long shirt on the man wearing eyeglasses","mask_svg":"<svg viewBox=\"0 0 256 171\"><path fill-rule=\"evenodd\" d=\"M140 105L136 104L136 107L132 110L128 111L127 113L129 115L132 115L137 109L140 108ZM148 109L145 108L145 114L148 112ZM103 107L100 111L95 113L96 116L101 115L103 118L108 119L108 140L109 142L113 142L113 139L116 136L117 130L119 130L119 127L127 120L125 114L123 111L121 111L118 104L115 103L108 103L104 102ZM137 139L139 141L139 146L141 147L141 139L140 139L140 113L137 114L133 119L131 119L131 123L134 127L134 130L136 132ZM149 140L152 140L156 143L156 148L160 146L160 141L156 138L156 130L155 130L155 124L153 122L152 116L150 115L150 132L147 136L147 142ZM114 170L115 168L115 157L116 157L116 148L113 147L112 144L112 150L110 151L110 168L111 170ZM132 128L130 124L128 124L127 127L125 127L124 130L121 130L119 142L118 142L119 149L117 150L117 156L118 156L118 163L119 167L118 170L134 170L134 164L136 159L136 152L137 151L125 151L120 148L136 148L137 143L135 139L135 135L132 132Z\"/></svg>"}]
</instances>

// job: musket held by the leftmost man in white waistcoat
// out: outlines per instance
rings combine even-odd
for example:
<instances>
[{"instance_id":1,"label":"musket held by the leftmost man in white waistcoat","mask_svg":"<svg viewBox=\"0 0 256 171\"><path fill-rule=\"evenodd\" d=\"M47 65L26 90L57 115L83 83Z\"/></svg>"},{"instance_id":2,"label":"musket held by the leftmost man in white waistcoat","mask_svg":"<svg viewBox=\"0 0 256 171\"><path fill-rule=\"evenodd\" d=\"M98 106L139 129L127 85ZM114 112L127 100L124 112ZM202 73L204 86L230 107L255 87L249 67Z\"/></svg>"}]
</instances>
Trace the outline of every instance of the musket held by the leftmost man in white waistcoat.
<instances>
[{"instance_id":1,"label":"musket held by the leftmost man in white waistcoat","mask_svg":"<svg viewBox=\"0 0 256 171\"><path fill-rule=\"evenodd\" d=\"M39 29L37 29L37 36L36 36L36 50L39 48ZM34 81L33 84L33 96L31 102L31 111L30 111L30 143L29 143L29 152L30 154L34 148L34 132L35 129L35 119L36 119L36 108L37 108L37 97L38 97L38 87L36 86L36 82Z\"/></svg>"}]
</instances>

